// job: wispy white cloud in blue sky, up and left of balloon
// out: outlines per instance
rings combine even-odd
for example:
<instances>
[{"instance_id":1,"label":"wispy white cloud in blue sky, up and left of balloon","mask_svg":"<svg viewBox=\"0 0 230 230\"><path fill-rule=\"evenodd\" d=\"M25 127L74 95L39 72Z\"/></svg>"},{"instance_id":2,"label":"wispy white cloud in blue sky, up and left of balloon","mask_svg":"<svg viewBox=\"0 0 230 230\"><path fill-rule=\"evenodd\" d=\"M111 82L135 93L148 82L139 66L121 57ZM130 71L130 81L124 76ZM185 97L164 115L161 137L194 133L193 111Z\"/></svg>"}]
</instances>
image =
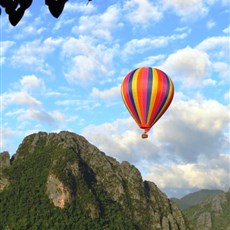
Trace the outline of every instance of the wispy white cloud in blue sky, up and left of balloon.
<instances>
[{"instance_id":1,"label":"wispy white cloud in blue sky, up and left of balloon","mask_svg":"<svg viewBox=\"0 0 230 230\"><path fill-rule=\"evenodd\" d=\"M65 77L70 83L87 85L113 74L116 47L96 45L88 37L69 38L63 45L63 55L70 58L65 64Z\"/></svg>"}]
</instances>

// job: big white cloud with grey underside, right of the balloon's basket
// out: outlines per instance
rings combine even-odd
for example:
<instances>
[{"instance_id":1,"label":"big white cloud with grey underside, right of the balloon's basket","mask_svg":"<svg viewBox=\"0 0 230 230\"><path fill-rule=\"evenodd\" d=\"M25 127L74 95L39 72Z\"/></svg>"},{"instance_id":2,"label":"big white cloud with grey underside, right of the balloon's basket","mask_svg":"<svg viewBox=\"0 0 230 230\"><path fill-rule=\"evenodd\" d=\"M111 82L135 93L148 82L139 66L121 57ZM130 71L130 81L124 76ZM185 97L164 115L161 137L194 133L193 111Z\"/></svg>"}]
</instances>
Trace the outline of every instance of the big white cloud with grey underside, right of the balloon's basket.
<instances>
[{"instance_id":1,"label":"big white cloud with grey underside, right of the balloon's basket","mask_svg":"<svg viewBox=\"0 0 230 230\"><path fill-rule=\"evenodd\" d=\"M174 101L167 119L161 119L155 134L163 152L195 162L201 156L225 153L229 140L225 130L229 125L229 107L214 100ZM167 112L166 112L167 113Z\"/></svg>"}]
</instances>

